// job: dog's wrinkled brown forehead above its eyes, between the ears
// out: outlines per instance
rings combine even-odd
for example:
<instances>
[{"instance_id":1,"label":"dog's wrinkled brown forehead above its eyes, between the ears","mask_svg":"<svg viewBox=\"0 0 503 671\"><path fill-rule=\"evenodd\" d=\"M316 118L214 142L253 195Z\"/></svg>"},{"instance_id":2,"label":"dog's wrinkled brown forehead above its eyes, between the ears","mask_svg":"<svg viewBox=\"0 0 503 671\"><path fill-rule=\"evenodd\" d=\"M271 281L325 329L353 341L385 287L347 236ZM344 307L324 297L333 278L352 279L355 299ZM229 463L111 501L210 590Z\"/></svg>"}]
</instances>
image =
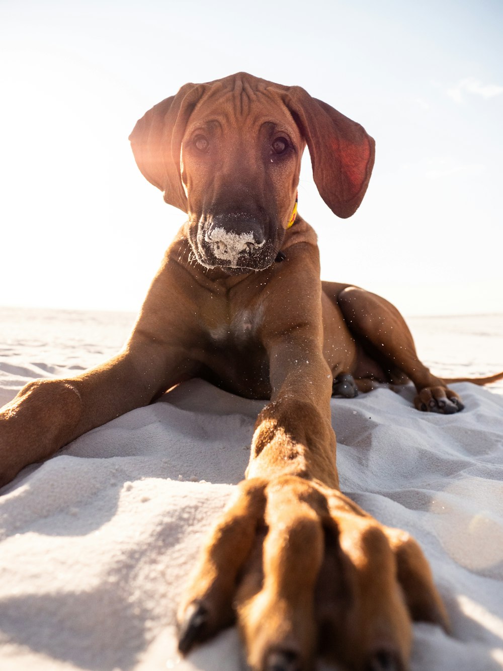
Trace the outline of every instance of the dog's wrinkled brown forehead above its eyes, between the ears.
<instances>
[{"instance_id":1,"label":"dog's wrinkled brown forehead above its eyes, between the ears","mask_svg":"<svg viewBox=\"0 0 503 671\"><path fill-rule=\"evenodd\" d=\"M274 125L278 131L292 135L302 142L298 127L284 104L279 91L260 87L222 89L209 85L190 115L186 133L196 128L221 127L239 134L258 132L265 125Z\"/></svg>"}]
</instances>

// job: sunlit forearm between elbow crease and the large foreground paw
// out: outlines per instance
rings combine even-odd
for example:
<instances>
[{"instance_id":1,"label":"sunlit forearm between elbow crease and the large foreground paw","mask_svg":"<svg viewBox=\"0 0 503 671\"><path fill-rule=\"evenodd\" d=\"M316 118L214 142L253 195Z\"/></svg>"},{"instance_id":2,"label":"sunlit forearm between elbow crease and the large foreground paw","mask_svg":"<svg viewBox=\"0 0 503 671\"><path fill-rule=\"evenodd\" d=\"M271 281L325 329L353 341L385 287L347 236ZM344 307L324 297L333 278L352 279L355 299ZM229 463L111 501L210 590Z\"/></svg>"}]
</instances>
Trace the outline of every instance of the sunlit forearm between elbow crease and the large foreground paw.
<instances>
[{"instance_id":1,"label":"sunlit forearm between elbow crease and the large foreground paw","mask_svg":"<svg viewBox=\"0 0 503 671\"><path fill-rule=\"evenodd\" d=\"M339 486L331 425L332 376L313 324L271 339L271 401L258 416L247 478L298 475Z\"/></svg>"}]
</instances>

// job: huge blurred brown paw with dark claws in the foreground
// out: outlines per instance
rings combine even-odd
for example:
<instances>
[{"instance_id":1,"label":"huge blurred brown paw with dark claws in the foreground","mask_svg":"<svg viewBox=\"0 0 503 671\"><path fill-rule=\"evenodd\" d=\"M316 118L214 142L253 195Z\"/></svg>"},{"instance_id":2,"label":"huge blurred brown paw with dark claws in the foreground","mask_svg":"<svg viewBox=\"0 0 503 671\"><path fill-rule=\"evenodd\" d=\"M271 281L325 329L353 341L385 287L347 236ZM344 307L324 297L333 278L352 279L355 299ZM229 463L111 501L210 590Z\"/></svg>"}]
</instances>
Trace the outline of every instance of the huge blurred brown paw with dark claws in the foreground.
<instances>
[{"instance_id":1,"label":"huge blurred brown paw with dark claws in the foreground","mask_svg":"<svg viewBox=\"0 0 503 671\"><path fill-rule=\"evenodd\" d=\"M237 625L256 671L407 667L411 619L447 617L416 542L339 491L296 476L239 485L178 613L186 653Z\"/></svg>"}]
</instances>

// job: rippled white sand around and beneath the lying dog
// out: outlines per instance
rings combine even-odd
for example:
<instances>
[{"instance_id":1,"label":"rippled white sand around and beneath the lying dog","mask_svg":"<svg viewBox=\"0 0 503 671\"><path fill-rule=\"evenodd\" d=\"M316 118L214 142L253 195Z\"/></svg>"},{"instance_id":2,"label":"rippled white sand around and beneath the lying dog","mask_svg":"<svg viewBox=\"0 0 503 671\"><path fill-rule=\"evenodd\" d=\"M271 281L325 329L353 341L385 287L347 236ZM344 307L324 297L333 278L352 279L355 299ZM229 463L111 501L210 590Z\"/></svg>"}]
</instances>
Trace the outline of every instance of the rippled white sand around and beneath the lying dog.
<instances>
[{"instance_id":1,"label":"rippled white sand around and beneath the lying dog","mask_svg":"<svg viewBox=\"0 0 503 671\"><path fill-rule=\"evenodd\" d=\"M133 315L0 310L0 404L121 345ZM435 372L503 369L503 315L410 319ZM503 668L503 384L457 384L459 415L412 391L333 400L341 486L421 542L453 635L415 625L412 671ZM174 611L247 464L257 401L193 380L26 468L0 497L1 671L239 668L233 629L176 658Z\"/></svg>"}]
</instances>

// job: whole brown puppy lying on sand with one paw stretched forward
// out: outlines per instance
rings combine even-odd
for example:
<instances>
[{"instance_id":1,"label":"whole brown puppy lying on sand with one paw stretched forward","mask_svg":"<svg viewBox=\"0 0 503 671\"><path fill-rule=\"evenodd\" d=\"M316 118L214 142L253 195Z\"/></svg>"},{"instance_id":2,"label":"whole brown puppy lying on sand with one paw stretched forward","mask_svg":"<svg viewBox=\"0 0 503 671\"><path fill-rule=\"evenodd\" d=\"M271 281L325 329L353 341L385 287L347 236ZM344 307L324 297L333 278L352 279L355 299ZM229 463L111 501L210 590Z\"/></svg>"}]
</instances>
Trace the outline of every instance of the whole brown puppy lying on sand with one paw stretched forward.
<instances>
[{"instance_id":1,"label":"whole brown puppy lying on sand with one paw stretched forward","mask_svg":"<svg viewBox=\"0 0 503 671\"><path fill-rule=\"evenodd\" d=\"M124 350L75 378L31 382L3 408L1 481L192 376L270 399L247 479L180 608L180 650L237 619L257 670L309 669L317 654L357 671L406 668L411 619L447 617L414 540L339 491L330 397L412 380L418 409L462 405L418 361L392 305L322 284L315 232L296 216L306 144L321 197L349 217L374 141L303 89L239 73L185 85L131 144L188 221Z\"/></svg>"}]
</instances>

